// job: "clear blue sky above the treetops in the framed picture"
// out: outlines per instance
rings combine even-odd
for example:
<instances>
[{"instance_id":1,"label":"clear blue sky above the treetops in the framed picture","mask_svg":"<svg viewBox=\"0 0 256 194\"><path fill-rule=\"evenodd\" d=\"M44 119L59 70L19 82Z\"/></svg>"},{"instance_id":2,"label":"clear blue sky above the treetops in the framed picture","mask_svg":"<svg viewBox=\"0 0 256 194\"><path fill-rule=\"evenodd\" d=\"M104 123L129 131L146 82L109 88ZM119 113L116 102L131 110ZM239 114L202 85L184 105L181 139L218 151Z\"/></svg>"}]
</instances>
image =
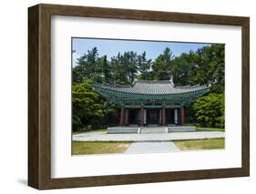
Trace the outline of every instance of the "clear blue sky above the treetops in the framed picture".
<instances>
[{"instance_id":1,"label":"clear blue sky above the treetops in the framed picture","mask_svg":"<svg viewBox=\"0 0 256 194\"><path fill-rule=\"evenodd\" d=\"M178 43L178 42L157 42L157 41L130 41L116 39L92 39L92 38L73 38L73 66L76 66L77 58L87 53L93 47L97 47L99 56L118 56L118 52L123 54L125 51L134 51L140 55L146 51L147 58L154 60L166 47L169 47L174 56L181 53L189 53L190 50L196 51L200 47L210 44L198 43Z\"/></svg>"}]
</instances>

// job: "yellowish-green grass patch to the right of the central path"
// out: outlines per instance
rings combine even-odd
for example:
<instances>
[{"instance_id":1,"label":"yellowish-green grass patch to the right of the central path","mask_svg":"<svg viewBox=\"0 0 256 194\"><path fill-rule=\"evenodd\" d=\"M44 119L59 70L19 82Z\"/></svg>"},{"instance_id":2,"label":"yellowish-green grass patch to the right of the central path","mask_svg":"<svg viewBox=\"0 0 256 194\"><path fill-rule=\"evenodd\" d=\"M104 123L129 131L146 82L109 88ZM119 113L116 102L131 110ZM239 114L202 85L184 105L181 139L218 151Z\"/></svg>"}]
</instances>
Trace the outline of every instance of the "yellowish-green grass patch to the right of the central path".
<instances>
[{"instance_id":1,"label":"yellowish-green grass patch to the right of the central path","mask_svg":"<svg viewBox=\"0 0 256 194\"><path fill-rule=\"evenodd\" d=\"M173 142L181 150L225 148L225 138L174 140Z\"/></svg>"}]
</instances>

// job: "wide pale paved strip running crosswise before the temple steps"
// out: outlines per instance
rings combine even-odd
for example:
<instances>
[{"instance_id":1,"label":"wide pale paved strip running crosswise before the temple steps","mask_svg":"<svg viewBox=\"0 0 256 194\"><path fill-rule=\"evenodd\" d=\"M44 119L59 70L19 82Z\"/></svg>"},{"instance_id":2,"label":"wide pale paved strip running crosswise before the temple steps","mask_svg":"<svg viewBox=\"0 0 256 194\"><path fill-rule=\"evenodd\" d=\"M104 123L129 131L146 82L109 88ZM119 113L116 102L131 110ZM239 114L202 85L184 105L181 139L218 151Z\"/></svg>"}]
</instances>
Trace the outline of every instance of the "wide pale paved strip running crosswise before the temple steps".
<instances>
[{"instance_id":1,"label":"wide pale paved strip running crosswise before the temple steps","mask_svg":"<svg viewBox=\"0 0 256 194\"><path fill-rule=\"evenodd\" d=\"M87 132L73 135L77 141L169 141L178 139L225 138L221 131L170 132L158 134L107 134L107 132Z\"/></svg>"}]
</instances>

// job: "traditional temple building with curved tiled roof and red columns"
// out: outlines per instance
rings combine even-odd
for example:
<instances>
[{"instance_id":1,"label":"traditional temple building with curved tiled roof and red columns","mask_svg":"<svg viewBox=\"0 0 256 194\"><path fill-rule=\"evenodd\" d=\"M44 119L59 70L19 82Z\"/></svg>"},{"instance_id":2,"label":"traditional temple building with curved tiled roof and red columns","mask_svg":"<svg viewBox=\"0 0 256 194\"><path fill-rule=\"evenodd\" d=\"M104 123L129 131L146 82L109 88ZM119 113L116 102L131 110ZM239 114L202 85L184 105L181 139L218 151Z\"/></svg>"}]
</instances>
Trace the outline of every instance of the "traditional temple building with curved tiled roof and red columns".
<instances>
[{"instance_id":1,"label":"traditional temple building with curved tiled roof and red columns","mask_svg":"<svg viewBox=\"0 0 256 194\"><path fill-rule=\"evenodd\" d=\"M119 126L183 126L184 106L208 86L176 87L171 80L135 80L131 86L95 84L93 89L120 107Z\"/></svg>"}]
</instances>

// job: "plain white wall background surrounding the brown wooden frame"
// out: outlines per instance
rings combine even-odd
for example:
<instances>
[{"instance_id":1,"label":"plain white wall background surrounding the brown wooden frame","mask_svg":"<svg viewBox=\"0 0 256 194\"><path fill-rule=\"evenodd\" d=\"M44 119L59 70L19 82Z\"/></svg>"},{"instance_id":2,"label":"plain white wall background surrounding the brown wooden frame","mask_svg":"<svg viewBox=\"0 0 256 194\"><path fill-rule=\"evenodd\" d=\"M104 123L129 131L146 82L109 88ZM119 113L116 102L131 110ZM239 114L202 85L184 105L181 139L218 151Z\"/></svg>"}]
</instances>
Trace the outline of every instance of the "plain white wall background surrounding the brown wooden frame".
<instances>
[{"instance_id":1,"label":"plain white wall background surrounding the brown wooden frame","mask_svg":"<svg viewBox=\"0 0 256 194\"><path fill-rule=\"evenodd\" d=\"M190 12L218 15L251 16L251 99L255 99L255 27L256 13L254 1L224 0L88 0L88 1L44 1L44 3L66 5L95 5L106 7L149 9L174 12ZM0 6L0 56L1 56L1 156L0 182L1 193L18 191L34 193L35 189L26 187L27 171L27 7L39 3L36 0L2 1ZM254 9L253 9L254 8ZM254 77L253 77L254 76ZM111 193L143 192L143 193L230 193L240 191L252 193L255 188L255 101L251 100L251 177L234 179L210 179L179 181L128 186L111 186L88 189L62 189L63 193ZM218 158L216 158L218 159ZM59 190L46 191L59 192Z\"/></svg>"}]
</instances>

